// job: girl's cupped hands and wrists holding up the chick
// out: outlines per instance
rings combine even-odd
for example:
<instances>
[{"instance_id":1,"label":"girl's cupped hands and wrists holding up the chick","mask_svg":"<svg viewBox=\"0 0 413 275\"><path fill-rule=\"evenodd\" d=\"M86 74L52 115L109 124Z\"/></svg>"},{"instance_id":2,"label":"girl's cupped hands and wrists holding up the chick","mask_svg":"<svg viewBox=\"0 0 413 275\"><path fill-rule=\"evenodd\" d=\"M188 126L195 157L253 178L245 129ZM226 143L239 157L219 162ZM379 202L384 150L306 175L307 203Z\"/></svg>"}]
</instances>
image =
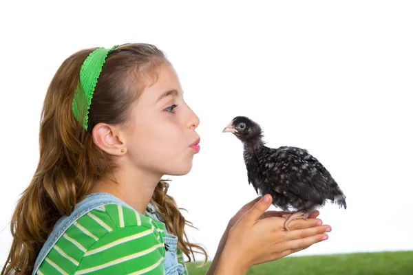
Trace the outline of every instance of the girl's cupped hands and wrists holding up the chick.
<instances>
[{"instance_id":1,"label":"girl's cupped hands and wrists holding up the chick","mask_svg":"<svg viewBox=\"0 0 413 275\"><path fill-rule=\"evenodd\" d=\"M319 219L298 219L284 229L284 218L266 217L271 195L258 200L228 232L215 274L245 274L253 265L274 261L327 239L331 230Z\"/></svg>"}]
</instances>

